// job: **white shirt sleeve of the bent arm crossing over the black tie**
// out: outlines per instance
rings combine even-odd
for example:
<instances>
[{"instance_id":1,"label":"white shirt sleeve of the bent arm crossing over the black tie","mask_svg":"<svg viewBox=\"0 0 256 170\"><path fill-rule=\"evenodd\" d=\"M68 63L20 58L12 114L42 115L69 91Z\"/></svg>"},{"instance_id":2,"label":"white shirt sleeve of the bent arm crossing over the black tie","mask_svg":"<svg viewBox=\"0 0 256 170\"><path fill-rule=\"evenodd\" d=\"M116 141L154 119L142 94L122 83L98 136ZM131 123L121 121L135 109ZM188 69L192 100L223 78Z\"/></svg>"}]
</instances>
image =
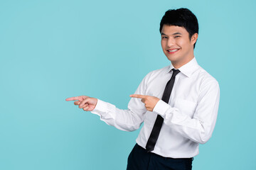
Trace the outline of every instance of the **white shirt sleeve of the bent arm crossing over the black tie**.
<instances>
[{"instance_id":1,"label":"white shirt sleeve of the bent arm crossing over the black tie","mask_svg":"<svg viewBox=\"0 0 256 170\"><path fill-rule=\"evenodd\" d=\"M213 133L219 100L218 81L210 81L201 87L198 103L192 117L161 100L156 103L154 112L161 115L164 118L164 123L183 137L204 144Z\"/></svg>"}]
</instances>

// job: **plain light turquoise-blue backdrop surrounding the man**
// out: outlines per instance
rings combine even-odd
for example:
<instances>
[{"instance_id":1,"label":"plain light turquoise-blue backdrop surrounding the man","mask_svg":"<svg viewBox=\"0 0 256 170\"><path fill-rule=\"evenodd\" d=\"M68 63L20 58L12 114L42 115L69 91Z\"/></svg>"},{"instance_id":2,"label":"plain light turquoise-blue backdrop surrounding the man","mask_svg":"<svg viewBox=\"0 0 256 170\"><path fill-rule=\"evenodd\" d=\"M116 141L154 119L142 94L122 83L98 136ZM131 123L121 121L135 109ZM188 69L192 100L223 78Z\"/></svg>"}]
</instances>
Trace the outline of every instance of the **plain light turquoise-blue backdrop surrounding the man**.
<instances>
[{"instance_id":1,"label":"plain light turquoise-blue backdrop surrounding the man","mask_svg":"<svg viewBox=\"0 0 256 170\"><path fill-rule=\"evenodd\" d=\"M198 17L196 59L220 84L215 131L193 169L256 169L253 0L1 0L0 169L125 169L139 130L65 98L127 108L143 77L169 64L159 22L180 7Z\"/></svg>"}]
</instances>

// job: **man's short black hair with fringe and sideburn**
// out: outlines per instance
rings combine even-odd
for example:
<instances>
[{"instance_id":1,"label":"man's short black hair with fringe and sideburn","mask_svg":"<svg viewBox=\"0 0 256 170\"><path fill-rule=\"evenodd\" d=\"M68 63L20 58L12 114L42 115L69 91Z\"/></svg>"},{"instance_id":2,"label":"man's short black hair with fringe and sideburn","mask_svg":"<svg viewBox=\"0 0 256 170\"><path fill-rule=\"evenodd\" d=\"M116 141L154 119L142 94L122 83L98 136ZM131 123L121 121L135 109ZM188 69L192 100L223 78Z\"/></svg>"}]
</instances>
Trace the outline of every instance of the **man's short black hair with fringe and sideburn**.
<instances>
[{"instance_id":1,"label":"man's short black hair with fringe and sideburn","mask_svg":"<svg viewBox=\"0 0 256 170\"><path fill-rule=\"evenodd\" d=\"M198 33L198 20L188 8L169 9L161 18L160 33L163 26L180 26L188 31L189 39L192 35ZM194 44L194 48L196 42Z\"/></svg>"}]
</instances>

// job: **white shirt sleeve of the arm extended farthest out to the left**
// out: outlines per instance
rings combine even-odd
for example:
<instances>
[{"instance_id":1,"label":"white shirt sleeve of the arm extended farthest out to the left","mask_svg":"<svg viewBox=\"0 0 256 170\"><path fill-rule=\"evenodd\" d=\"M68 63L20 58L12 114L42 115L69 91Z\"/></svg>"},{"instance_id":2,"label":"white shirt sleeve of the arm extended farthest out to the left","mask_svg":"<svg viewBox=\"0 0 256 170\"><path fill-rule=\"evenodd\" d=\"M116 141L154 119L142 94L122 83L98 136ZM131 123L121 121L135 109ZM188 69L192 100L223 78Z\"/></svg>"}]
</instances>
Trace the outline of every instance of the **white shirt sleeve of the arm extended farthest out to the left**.
<instances>
[{"instance_id":1,"label":"white shirt sleeve of the arm extended farthest out to the left","mask_svg":"<svg viewBox=\"0 0 256 170\"><path fill-rule=\"evenodd\" d=\"M139 84L135 94L145 94L146 81L148 79L149 74ZM97 105L92 113L100 115L100 120L107 123L107 125L112 125L119 130L133 131L139 129L144 121L146 108L144 103L134 98L131 98L129 101L127 110L119 109L111 103L98 99Z\"/></svg>"}]
</instances>

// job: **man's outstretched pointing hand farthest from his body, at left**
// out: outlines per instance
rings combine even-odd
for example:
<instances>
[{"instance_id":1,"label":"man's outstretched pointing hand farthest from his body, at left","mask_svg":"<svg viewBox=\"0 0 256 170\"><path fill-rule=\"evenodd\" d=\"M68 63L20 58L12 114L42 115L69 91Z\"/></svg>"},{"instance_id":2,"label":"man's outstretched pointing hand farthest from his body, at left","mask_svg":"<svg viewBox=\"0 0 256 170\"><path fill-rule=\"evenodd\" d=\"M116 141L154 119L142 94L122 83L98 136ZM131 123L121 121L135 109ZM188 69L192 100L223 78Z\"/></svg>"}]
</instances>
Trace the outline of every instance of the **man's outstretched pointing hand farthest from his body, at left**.
<instances>
[{"instance_id":1,"label":"man's outstretched pointing hand farthest from his body, at left","mask_svg":"<svg viewBox=\"0 0 256 170\"><path fill-rule=\"evenodd\" d=\"M75 101L75 105L79 105L84 111L93 111L97 105L97 98L91 98L89 96L78 96L67 98L66 101Z\"/></svg>"}]
</instances>

